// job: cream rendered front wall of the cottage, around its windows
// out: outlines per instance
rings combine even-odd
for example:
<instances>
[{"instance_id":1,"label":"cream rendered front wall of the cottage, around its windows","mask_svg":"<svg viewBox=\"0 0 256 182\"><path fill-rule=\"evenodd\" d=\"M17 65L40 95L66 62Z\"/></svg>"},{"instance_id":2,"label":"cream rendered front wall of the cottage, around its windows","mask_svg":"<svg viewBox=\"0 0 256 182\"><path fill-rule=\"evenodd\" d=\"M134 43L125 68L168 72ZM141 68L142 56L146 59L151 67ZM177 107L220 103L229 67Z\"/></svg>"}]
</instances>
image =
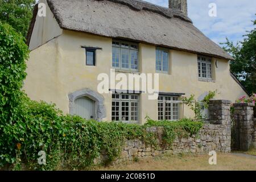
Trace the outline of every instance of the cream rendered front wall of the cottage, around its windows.
<instances>
[{"instance_id":1,"label":"cream rendered front wall of the cottage, around its windows","mask_svg":"<svg viewBox=\"0 0 256 182\"><path fill-rule=\"evenodd\" d=\"M37 31L37 29L35 30ZM36 42L32 37L32 42ZM96 51L96 67L85 65L85 49L81 46L100 47ZM215 59L214 59L215 60ZM89 88L97 92L97 76L100 73L110 75L112 68L112 39L63 30L63 34L30 53L28 76L24 90L32 100L53 102L64 113L69 113L68 94ZM143 73L155 73L155 46L139 44L139 70ZM209 90L218 90L217 99L235 101L246 94L240 85L230 76L226 60L217 60L214 67L215 81L203 82L197 77L197 55L170 50L170 73L159 75L159 92L195 94L198 98ZM119 72L117 72L119 73ZM127 75L127 72L125 72ZM105 98L106 118L111 120L112 94L102 94ZM146 115L158 118L157 100L148 100L148 94L140 96L140 122ZM184 116L193 117L193 112L184 107Z\"/></svg>"}]
</instances>

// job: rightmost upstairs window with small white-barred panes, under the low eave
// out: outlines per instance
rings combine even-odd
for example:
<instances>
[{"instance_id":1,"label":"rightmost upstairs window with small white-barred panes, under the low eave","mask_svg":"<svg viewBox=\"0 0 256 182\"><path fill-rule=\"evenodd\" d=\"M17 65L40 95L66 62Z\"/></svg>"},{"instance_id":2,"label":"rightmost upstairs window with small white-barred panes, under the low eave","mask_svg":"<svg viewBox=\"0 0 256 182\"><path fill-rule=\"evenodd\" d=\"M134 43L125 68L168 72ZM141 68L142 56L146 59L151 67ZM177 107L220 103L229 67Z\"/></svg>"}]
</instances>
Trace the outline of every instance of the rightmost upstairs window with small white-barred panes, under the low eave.
<instances>
[{"instance_id":1,"label":"rightmost upstairs window with small white-barred panes, under the low eave","mask_svg":"<svg viewBox=\"0 0 256 182\"><path fill-rule=\"evenodd\" d=\"M212 80L212 59L210 57L198 56L198 77L202 80Z\"/></svg>"}]
</instances>

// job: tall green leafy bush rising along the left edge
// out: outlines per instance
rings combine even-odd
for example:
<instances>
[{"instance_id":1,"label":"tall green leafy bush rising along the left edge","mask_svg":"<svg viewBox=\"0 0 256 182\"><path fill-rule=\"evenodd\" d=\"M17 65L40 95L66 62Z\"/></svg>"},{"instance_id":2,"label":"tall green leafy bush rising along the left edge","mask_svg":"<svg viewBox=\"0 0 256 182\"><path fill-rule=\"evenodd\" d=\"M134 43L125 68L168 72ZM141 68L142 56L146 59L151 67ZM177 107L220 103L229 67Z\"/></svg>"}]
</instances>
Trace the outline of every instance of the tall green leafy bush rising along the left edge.
<instances>
[{"instance_id":1,"label":"tall green leafy bush rising along the left edge","mask_svg":"<svg viewBox=\"0 0 256 182\"><path fill-rule=\"evenodd\" d=\"M0 164L14 163L16 135L22 132L26 119L23 92L28 48L22 35L0 22ZM13 127L20 123L20 128Z\"/></svg>"}]
</instances>

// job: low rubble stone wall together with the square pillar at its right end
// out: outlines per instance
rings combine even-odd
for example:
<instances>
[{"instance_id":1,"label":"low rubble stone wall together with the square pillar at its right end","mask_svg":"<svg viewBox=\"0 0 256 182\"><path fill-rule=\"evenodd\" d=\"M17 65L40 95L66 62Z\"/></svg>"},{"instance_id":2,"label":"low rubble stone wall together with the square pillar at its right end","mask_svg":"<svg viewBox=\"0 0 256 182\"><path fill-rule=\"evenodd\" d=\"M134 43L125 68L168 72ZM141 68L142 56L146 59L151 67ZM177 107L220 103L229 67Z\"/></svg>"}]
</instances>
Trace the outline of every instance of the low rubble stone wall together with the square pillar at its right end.
<instances>
[{"instance_id":1,"label":"low rubble stone wall together with the square pillar at its right end","mask_svg":"<svg viewBox=\"0 0 256 182\"><path fill-rule=\"evenodd\" d=\"M141 140L126 140L121 160L135 158L153 158L162 154L208 154L209 151L230 152L231 124L230 101L210 101L210 123L204 125L197 135L187 138L176 138L170 147L146 146ZM153 127L149 132L157 132L161 138L163 131L160 127Z\"/></svg>"}]
</instances>

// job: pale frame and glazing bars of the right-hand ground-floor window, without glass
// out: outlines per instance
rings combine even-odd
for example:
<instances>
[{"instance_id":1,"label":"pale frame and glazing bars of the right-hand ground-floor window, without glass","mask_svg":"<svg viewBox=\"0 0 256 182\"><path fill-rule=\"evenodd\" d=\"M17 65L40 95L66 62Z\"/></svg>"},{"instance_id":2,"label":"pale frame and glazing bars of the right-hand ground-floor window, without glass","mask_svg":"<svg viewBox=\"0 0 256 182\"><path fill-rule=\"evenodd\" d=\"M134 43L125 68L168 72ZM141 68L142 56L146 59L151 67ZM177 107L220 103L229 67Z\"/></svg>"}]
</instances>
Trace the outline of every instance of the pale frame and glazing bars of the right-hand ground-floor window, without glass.
<instances>
[{"instance_id":1,"label":"pale frame and glazing bars of the right-hand ground-floor window, without glass","mask_svg":"<svg viewBox=\"0 0 256 182\"><path fill-rule=\"evenodd\" d=\"M161 97L163 99L161 99ZM168 100L167 98L170 98L170 100ZM175 98L175 100L174 100ZM179 101L179 96L168 96L168 95L159 95L158 97L158 120L167 120L167 121L177 121L180 119L180 103L181 101ZM163 111L162 114L160 115L159 113L161 113L161 111L159 111L159 105L162 104L163 105ZM166 107L167 104L170 104L170 114L171 115L166 115ZM174 105L173 104L177 104L177 110L174 110ZM177 114L174 115L174 112L176 112ZM166 118L170 116L170 119ZM160 117L163 117L162 119ZM175 118L177 117L177 118Z\"/></svg>"}]
</instances>

